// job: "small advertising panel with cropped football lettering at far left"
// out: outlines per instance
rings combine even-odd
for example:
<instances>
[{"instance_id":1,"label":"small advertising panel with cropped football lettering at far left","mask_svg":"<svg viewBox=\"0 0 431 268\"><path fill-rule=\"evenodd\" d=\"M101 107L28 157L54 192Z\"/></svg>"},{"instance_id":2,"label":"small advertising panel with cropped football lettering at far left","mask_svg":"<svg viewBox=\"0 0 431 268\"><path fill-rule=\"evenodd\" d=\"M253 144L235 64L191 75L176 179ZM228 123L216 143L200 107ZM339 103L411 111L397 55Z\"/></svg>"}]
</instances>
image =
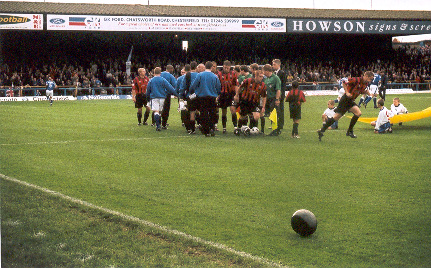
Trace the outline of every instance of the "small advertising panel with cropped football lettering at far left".
<instances>
[{"instance_id":1,"label":"small advertising panel with cropped football lettering at far left","mask_svg":"<svg viewBox=\"0 0 431 268\"><path fill-rule=\"evenodd\" d=\"M0 13L0 29L43 30L43 15Z\"/></svg>"}]
</instances>

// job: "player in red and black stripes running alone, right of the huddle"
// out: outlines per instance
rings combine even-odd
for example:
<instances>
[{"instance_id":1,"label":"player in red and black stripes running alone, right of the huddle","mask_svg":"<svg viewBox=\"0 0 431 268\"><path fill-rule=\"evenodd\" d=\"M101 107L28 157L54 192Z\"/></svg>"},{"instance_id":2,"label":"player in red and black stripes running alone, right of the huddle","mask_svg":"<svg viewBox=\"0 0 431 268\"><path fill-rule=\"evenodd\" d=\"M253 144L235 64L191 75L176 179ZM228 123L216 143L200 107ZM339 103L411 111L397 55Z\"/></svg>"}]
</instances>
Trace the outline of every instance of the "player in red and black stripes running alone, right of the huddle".
<instances>
[{"instance_id":1,"label":"player in red and black stripes running alone, right of the huddle","mask_svg":"<svg viewBox=\"0 0 431 268\"><path fill-rule=\"evenodd\" d=\"M317 134L319 135L319 141L322 140L323 132L325 132L325 130L328 129L328 127L330 127L335 121L338 121L338 119L340 119L347 111L352 112L354 115L352 120L350 120L350 125L347 129L346 136L356 138L356 135L353 134L353 127L362 113L358 105L355 103L355 99L364 93L367 93L369 96L371 96L367 86L373 79L373 72L367 71L361 77L352 77L349 78L347 82L343 82L345 93L341 97L338 107L334 110L334 117L328 119L328 121L323 124L323 127L317 131Z\"/></svg>"}]
</instances>

